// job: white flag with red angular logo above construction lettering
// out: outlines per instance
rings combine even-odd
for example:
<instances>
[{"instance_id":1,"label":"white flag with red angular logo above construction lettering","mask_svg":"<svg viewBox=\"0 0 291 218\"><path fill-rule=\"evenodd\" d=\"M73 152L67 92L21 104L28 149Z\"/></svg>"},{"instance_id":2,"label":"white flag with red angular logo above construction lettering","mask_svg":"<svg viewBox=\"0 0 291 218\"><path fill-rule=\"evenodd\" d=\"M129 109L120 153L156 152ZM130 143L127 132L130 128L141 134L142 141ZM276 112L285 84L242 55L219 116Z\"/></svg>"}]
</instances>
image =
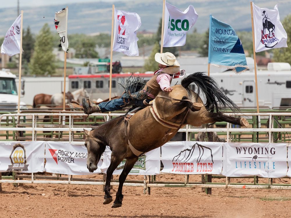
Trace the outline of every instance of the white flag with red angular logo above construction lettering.
<instances>
[{"instance_id":1,"label":"white flag with red angular logo above construction lettering","mask_svg":"<svg viewBox=\"0 0 291 218\"><path fill-rule=\"evenodd\" d=\"M139 56L136 31L141 26L137 13L114 9L113 51L129 56Z\"/></svg>"}]
</instances>

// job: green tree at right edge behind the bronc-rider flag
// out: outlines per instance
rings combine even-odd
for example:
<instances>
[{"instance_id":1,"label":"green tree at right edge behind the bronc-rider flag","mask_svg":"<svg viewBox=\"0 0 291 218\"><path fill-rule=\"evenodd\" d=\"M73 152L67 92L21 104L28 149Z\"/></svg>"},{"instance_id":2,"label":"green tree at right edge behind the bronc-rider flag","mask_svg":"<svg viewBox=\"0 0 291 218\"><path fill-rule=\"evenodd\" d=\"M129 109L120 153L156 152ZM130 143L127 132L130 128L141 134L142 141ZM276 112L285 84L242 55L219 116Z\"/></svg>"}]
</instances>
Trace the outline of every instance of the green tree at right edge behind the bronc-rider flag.
<instances>
[{"instance_id":1,"label":"green tree at right edge behind the bronc-rider flag","mask_svg":"<svg viewBox=\"0 0 291 218\"><path fill-rule=\"evenodd\" d=\"M275 62L288 62L291 64L291 14L289 14L285 19L283 20L282 24L283 27L287 33L288 39L287 39L287 48L280 48L280 49L274 49L274 61Z\"/></svg>"}]
</instances>

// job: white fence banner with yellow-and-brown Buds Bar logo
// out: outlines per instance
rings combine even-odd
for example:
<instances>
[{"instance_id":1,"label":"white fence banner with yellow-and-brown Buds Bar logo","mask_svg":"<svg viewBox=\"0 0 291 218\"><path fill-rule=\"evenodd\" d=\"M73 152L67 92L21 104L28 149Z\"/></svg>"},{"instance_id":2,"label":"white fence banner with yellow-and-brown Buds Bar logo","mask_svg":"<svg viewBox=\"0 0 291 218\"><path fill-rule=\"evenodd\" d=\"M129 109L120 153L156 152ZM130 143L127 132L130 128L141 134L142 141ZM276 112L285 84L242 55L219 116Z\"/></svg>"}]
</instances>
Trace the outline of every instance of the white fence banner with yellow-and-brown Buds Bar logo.
<instances>
[{"instance_id":1,"label":"white fence banner with yellow-and-brown Buds Bar logo","mask_svg":"<svg viewBox=\"0 0 291 218\"><path fill-rule=\"evenodd\" d=\"M0 142L0 172L43 172L45 144L35 142Z\"/></svg>"}]
</instances>

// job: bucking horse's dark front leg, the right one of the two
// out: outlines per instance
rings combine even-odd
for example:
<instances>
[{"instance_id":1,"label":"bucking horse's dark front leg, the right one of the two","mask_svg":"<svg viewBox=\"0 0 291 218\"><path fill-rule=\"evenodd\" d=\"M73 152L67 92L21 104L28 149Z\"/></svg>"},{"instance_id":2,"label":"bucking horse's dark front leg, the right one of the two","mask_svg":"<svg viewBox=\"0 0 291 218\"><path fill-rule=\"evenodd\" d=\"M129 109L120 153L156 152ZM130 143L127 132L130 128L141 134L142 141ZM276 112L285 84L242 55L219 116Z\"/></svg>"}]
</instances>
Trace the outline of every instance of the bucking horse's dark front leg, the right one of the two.
<instances>
[{"instance_id":1,"label":"bucking horse's dark front leg, the right one of the two","mask_svg":"<svg viewBox=\"0 0 291 218\"><path fill-rule=\"evenodd\" d=\"M126 158L125 166L123 168L122 173L119 176L119 185L118 185L118 190L116 192L116 199L112 205L112 208L118 208L122 206L122 199L123 199L123 194L122 194L122 187L123 183L129 174L130 170L134 166L135 162L138 160L138 157L135 158Z\"/></svg>"}]
</instances>

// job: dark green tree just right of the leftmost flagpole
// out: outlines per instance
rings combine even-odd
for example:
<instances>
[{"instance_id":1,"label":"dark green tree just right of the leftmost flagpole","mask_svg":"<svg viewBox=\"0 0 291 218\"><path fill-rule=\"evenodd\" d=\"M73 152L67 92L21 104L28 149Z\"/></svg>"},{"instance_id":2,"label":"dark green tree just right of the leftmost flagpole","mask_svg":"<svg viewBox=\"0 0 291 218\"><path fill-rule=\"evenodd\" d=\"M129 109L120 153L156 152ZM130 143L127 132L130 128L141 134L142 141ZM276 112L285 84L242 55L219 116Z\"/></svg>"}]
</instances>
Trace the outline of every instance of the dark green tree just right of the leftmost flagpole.
<instances>
[{"instance_id":1,"label":"dark green tree just right of the leftmost flagpole","mask_svg":"<svg viewBox=\"0 0 291 218\"><path fill-rule=\"evenodd\" d=\"M30 31L30 27L28 26L26 30L23 30L23 37L22 37L22 60L26 60L27 63L30 62L30 58L33 53L35 39Z\"/></svg>"}]
</instances>

